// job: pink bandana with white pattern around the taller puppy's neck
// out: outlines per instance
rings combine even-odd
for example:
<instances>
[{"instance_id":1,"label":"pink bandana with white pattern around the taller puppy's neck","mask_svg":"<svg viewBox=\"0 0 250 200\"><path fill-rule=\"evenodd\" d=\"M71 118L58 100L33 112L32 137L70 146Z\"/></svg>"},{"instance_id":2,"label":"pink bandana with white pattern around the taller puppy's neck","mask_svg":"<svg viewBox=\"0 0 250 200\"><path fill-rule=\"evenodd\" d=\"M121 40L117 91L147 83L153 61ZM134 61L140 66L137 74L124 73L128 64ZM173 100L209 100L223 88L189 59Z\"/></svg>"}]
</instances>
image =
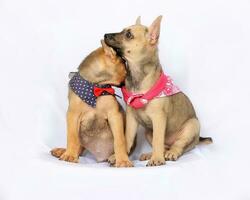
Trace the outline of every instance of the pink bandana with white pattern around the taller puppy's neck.
<instances>
[{"instance_id":1,"label":"pink bandana with white pattern around the taller puppy's neck","mask_svg":"<svg viewBox=\"0 0 250 200\"><path fill-rule=\"evenodd\" d=\"M174 85L170 76L161 74L153 87L144 94L135 94L122 87L122 94L127 105L133 108L142 108L153 98L171 96L180 92L180 89Z\"/></svg>"}]
</instances>

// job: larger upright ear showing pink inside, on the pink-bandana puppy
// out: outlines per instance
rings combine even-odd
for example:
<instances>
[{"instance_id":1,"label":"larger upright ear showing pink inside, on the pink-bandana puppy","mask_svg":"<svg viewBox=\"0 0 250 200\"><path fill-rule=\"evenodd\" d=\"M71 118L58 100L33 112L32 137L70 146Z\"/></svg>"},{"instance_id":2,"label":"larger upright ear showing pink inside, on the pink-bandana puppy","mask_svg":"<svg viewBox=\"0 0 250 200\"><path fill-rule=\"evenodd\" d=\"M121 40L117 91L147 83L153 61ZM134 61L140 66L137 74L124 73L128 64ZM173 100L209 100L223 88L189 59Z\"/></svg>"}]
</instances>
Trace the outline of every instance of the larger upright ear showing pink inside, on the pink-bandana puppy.
<instances>
[{"instance_id":1,"label":"larger upright ear showing pink inside, on the pink-bandana puppy","mask_svg":"<svg viewBox=\"0 0 250 200\"><path fill-rule=\"evenodd\" d=\"M151 26L149 27L149 42L152 45L157 44L160 37L160 28L161 28L161 19L162 15L158 16Z\"/></svg>"}]
</instances>

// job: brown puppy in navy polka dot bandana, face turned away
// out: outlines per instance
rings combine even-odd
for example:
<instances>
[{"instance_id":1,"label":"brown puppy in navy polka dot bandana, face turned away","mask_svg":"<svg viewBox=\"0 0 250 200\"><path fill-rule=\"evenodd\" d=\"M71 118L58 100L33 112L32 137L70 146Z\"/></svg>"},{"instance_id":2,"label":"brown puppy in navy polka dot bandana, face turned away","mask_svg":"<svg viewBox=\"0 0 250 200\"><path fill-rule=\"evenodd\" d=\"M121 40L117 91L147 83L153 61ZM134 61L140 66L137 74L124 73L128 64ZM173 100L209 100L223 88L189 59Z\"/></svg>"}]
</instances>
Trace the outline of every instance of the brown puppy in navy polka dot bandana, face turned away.
<instances>
[{"instance_id":1,"label":"brown puppy in navy polka dot bandana, face turned away","mask_svg":"<svg viewBox=\"0 0 250 200\"><path fill-rule=\"evenodd\" d=\"M97 161L114 152L116 167L132 167L124 136L124 112L110 85L120 85L126 75L124 62L101 41L102 48L89 54L69 83L67 111L67 149L55 148L51 154L60 160L78 162L87 149ZM108 84L108 85L107 85Z\"/></svg>"}]
</instances>

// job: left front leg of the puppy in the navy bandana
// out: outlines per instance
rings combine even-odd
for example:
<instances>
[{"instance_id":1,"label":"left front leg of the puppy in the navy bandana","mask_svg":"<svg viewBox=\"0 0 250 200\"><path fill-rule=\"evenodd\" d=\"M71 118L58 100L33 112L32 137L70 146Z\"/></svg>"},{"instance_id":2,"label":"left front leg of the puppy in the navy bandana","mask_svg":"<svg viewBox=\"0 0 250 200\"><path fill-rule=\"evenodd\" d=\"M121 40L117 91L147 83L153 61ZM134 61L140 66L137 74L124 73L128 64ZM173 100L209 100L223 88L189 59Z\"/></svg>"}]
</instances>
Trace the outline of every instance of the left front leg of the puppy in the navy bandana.
<instances>
[{"instance_id":1,"label":"left front leg of the puppy in the navy bandana","mask_svg":"<svg viewBox=\"0 0 250 200\"><path fill-rule=\"evenodd\" d=\"M75 110L67 112L67 149L60 156L59 160L78 162L82 146L79 140L80 113Z\"/></svg>"}]
</instances>

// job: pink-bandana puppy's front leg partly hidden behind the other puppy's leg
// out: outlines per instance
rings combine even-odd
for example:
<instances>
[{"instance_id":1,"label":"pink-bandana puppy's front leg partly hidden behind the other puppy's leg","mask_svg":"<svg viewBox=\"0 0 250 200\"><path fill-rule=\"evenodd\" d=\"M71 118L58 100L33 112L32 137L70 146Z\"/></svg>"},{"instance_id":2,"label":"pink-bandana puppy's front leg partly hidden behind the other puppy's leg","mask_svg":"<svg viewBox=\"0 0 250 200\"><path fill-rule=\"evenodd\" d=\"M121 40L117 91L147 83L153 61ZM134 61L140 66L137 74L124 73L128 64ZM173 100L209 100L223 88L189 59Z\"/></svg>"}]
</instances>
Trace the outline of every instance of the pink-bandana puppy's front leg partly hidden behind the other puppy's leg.
<instances>
[{"instance_id":1,"label":"pink-bandana puppy's front leg partly hidden behind the other puppy's leg","mask_svg":"<svg viewBox=\"0 0 250 200\"><path fill-rule=\"evenodd\" d=\"M128 154L131 151L131 148L134 144L134 139L136 136L136 131L138 128L138 122L135 119L134 114L132 113L132 108L127 107L126 111L126 131L125 131L125 137L126 137L126 145L127 145L127 152Z\"/></svg>"}]
</instances>

